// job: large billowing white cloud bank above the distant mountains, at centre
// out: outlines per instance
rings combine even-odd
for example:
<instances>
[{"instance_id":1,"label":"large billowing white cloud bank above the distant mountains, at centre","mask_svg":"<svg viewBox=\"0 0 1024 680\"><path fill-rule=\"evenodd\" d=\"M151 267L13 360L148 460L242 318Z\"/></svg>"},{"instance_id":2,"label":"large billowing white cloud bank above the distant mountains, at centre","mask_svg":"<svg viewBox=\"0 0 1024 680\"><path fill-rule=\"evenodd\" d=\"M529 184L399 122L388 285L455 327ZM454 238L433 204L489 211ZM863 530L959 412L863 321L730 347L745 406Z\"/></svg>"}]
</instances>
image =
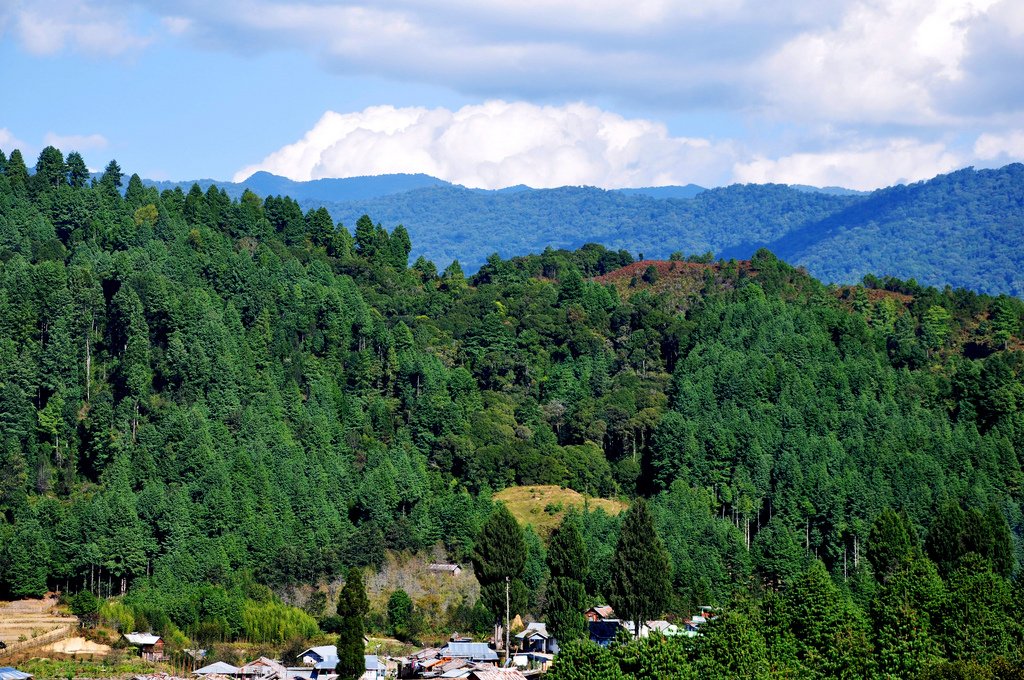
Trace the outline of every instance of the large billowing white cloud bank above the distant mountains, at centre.
<instances>
[{"instance_id":1,"label":"large billowing white cloud bank above the distant mountains, at centre","mask_svg":"<svg viewBox=\"0 0 1024 680\"><path fill-rule=\"evenodd\" d=\"M714 183L730 143L674 137L665 125L583 103L490 100L457 111L372 107L326 113L302 139L240 170L298 180L423 172L466 186Z\"/></svg>"}]
</instances>

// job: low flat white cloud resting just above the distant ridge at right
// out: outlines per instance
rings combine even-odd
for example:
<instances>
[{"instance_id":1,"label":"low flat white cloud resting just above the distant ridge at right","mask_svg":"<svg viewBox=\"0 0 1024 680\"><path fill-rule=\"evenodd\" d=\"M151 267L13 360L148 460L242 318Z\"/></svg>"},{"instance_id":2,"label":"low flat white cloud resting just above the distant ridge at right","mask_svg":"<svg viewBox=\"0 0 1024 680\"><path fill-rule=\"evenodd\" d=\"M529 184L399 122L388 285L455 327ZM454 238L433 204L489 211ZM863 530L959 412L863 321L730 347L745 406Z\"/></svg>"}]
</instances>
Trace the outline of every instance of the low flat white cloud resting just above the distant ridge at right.
<instances>
[{"instance_id":1,"label":"low flat white cloud resting just above the distant ridge at right","mask_svg":"<svg viewBox=\"0 0 1024 680\"><path fill-rule=\"evenodd\" d=\"M873 189L930 179L964 165L964 159L940 142L888 139L850 144L777 159L755 158L733 169L739 182L779 182L813 186Z\"/></svg>"}]
</instances>

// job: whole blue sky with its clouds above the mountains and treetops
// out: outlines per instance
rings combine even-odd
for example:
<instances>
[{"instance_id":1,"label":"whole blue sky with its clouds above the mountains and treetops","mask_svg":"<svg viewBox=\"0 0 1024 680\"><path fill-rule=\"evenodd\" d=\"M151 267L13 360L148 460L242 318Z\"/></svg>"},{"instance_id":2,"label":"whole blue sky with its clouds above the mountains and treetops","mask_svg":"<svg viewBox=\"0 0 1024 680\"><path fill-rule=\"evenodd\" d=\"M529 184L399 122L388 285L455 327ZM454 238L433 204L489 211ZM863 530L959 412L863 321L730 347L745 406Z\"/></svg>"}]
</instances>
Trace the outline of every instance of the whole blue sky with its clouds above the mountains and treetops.
<instances>
[{"instance_id":1,"label":"whole blue sky with its clouds above the mountains and treetops","mask_svg":"<svg viewBox=\"0 0 1024 680\"><path fill-rule=\"evenodd\" d=\"M0 0L0 150L872 188L1024 159L1019 0Z\"/></svg>"}]
</instances>

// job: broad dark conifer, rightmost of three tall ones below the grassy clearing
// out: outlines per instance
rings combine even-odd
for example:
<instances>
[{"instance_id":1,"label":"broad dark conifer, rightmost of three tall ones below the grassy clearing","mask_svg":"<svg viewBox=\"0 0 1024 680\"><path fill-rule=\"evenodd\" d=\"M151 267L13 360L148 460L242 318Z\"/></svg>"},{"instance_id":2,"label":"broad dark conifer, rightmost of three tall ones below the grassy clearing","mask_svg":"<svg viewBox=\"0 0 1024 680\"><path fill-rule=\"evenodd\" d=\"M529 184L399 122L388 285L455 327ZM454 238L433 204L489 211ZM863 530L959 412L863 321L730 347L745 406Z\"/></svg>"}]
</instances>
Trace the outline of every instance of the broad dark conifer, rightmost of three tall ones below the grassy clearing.
<instances>
[{"instance_id":1,"label":"broad dark conifer, rightmost of three tall ones below the grassy clearing","mask_svg":"<svg viewBox=\"0 0 1024 680\"><path fill-rule=\"evenodd\" d=\"M626 514L611 560L608 603L615 612L640 626L669 605L672 592L669 553L654 528L654 518L644 499L638 499Z\"/></svg>"}]
</instances>

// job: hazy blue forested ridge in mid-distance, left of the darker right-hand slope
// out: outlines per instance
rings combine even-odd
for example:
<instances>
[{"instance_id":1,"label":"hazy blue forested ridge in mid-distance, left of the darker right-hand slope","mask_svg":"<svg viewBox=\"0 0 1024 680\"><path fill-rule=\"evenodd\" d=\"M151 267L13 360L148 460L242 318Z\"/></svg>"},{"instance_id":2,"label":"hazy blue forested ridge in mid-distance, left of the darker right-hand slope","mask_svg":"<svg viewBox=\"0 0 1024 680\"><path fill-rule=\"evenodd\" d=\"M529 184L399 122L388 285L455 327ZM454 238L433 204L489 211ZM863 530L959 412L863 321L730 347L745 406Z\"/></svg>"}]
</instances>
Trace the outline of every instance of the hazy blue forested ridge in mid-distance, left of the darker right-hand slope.
<instances>
[{"instance_id":1,"label":"hazy blue forested ridge in mid-distance, left of the darker right-hand slope","mask_svg":"<svg viewBox=\"0 0 1024 680\"><path fill-rule=\"evenodd\" d=\"M415 244L414 256L439 264L459 259L475 270L493 253L510 257L549 246L572 250L599 243L658 257L743 248L822 219L851 201L778 184L708 189L685 200L587 186L511 194L442 186L323 205L348 225L362 214L402 224Z\"/></svg>"}]
</instances>

